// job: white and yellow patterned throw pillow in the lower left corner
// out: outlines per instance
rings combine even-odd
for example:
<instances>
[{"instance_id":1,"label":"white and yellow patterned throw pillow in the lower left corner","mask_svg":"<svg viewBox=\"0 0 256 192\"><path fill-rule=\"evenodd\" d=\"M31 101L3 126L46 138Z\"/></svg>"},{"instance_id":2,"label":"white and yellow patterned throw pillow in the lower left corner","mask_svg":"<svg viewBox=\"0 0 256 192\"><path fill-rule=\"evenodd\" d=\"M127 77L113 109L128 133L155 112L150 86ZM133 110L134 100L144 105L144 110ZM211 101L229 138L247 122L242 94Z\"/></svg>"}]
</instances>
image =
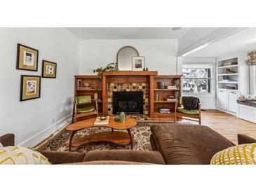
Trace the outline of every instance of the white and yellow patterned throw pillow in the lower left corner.
<instances>
[{"instance_id":1,"label":"white and yellow patterned throw pillow in the lower left corner","mask_svg":"<svg viewBox=\"0 0 256 192\"><path fill-rule=\"evenodd\" d=\"M24 146L0 147L0 165L49 165L48 159L38 151Z\"/></svg>"}]
</instances>

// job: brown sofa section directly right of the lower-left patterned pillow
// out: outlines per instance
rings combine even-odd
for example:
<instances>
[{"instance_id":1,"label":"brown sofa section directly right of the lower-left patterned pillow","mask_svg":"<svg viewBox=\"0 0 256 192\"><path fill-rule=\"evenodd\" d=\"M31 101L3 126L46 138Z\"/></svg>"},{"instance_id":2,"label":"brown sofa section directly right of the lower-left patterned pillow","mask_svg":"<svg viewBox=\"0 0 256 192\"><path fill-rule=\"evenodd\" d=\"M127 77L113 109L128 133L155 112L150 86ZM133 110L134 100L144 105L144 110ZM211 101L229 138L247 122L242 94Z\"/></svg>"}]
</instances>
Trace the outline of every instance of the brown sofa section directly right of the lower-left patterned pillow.
<instances>
[{"instance_id":1,"label":"brown sofa section directly right of the lower-left patterned pillow","mask_svg":"<svg viewBox=\"0 0 256 192\"><path fill-rule=\"evenodd\" d=\"M67 152L67 151L39 151L48 158L50 163L78 163L86 156L85 153Z\"/></svg>"}]
</instances>

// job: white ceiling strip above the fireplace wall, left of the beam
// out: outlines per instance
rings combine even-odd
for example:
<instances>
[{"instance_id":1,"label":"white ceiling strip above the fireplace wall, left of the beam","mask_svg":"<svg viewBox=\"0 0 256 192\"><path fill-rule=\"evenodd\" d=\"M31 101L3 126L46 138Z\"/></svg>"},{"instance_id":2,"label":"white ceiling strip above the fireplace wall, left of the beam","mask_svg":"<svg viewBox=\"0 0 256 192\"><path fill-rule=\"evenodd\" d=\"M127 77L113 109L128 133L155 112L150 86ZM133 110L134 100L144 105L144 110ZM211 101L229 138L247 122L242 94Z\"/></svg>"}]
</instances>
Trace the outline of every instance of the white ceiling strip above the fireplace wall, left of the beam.
<instances>
[{"instance_id":1,"label":"white ceiling strip above the fireplace wall, left of the beam","mask_svg":"<svg viewBox=\"0 0 256 192\"><path fill-rule=\"evenodd\" d=\"M191 27L77 27L67 28L79 39L180 39Z\"/></svg>"}]
</instances>

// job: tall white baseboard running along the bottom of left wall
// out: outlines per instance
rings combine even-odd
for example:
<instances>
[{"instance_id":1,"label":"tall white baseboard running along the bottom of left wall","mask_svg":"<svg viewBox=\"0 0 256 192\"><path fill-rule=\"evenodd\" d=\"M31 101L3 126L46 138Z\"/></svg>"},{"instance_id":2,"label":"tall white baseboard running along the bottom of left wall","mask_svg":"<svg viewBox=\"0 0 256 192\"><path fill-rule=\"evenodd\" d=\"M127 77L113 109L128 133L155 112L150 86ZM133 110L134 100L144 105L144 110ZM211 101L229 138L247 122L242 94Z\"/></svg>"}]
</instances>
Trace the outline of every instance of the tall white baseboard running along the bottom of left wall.
<instances>
[{"instance_id":1,"label":"tall white baseboard running along the bottom of left wall","mask_svg":"<svg viewBox=\"0 0 256 192\"><path fill-rule=\"evenodd\" d=\"M27 147L33 147L39 144L41 141L49 137L53 134L53 132L56 132L57 130L60 130L61 128L65 127L72 121L72 114L69 114L65 118L60 119L60 121L57 121L53 125L48 126L48 128L41 130L33 137L30 137L29 139L25 140L24 142L21 142L18 144L18 146L27 146Z\"/></svg>"}]
</instances>

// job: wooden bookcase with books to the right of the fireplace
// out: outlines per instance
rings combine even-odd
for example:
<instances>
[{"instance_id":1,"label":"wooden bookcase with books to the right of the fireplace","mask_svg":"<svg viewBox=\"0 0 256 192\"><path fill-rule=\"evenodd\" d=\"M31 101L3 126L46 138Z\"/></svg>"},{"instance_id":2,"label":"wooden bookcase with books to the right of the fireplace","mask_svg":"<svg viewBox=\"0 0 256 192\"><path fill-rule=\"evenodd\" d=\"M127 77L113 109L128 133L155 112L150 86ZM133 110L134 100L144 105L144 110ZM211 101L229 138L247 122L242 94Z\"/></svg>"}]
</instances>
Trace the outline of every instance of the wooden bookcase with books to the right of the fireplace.
<instances>
[{"instance_id":1,"label":"wooden bookcase with books to the right of the fireplace","mask_svg":"<svg viewBox=\"0 0 256 192\"><path fill-rule=\"evenodd\" d=\"M166 88L159 88L159 82L164 82ZM167 86L175 85L176 88L168 89ZM177 101L166 101L171 95ZM175 115L175 103L181 95L181 76L151 76L150 78L150 116L152 118L173 117ZM176 105L177 106L177 105ZM159 109L170 109L170 114L161 114Z\"/></svg>"}]
</instances>

